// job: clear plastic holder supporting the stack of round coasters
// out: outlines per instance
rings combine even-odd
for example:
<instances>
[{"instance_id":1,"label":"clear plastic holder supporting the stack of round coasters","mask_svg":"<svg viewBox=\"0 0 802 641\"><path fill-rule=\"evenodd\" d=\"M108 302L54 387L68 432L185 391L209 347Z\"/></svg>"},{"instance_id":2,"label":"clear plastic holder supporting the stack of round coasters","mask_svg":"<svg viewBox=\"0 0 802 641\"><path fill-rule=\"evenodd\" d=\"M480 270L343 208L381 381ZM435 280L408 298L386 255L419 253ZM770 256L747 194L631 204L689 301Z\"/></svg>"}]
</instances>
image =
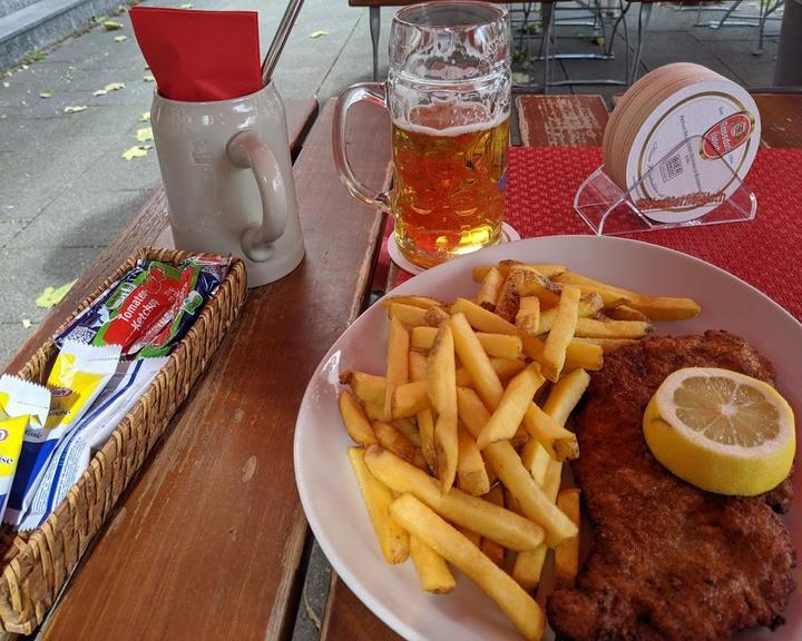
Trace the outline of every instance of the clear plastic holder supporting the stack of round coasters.
<instances>
[{"instance_id":1,"label":"clear plastic holder supporting the stack of round coasters","mask_svg":"<svg viewBox=\"0 0 802 641\"><path fill-rule=\"evenodd\" d=\"M627 191L607 176L603 165L581 184L574 197L574 208L597 236L752 220L757 211L755 195L744 186L723 156L705 157L700 162L697 150L703 149L704 142L703 136L686 138L652 165ZM704 174L700 171L700 176L704 176L704 180L700 181L712 185L710 190L662 199L644 197L648 193L644 186L649 185L652 178L659 177L665 181L666 172L671 176L677 162L682 162L678 158L687 160L691 156L695 158L695 162L691 160L694 169L704 170ZM661 208L661 205L664 207ZM654 218L656 215L669 218L672 214L666 214L666 208L671 205L681 211L677 214L681 219L666 221ZM688 217L692 218L686 219Z\"/></svg>"}]
</instances>

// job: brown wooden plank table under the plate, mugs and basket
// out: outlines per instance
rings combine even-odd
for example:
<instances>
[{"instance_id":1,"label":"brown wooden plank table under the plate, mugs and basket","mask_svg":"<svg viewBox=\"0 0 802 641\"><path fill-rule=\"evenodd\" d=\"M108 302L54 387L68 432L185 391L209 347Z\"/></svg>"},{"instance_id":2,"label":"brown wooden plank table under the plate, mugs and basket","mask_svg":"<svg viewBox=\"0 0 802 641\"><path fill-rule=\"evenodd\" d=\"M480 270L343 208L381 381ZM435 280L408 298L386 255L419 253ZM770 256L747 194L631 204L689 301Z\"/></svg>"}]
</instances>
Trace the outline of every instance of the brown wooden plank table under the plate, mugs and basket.
<instances>
[{"instance_id":1,"label":"brown wooden plank table under the plate, mugs and basket","mask_svg":"<svg viewBox=\"0 0 802 641\"><path fill-rule=\"evenodd\" d=\"M802 98L760 97L765 142L802 146ZM764 107L764 105L766 107ZM40 631L56 639L286 639L311 535L292 466L306 382L364 308L384 217L342 187L330 139L334 105L287 101L306 257L286 278L253 289L189 400L121 497L115 516ZM530 146L598 145L598 97L519 97ZM360 177L388 179L385 114L361 107L348 136ZM316 119L315 119L315 116ZM566 125L568 124L568 125ZM382 134L379 134L382 132ZM168 246L158 193L22 346L16 372L76 303L135 248ZM392 273L391 273L392 286ZM398 639L332 576L324 641Z\"/></svg>"}]
</instances>

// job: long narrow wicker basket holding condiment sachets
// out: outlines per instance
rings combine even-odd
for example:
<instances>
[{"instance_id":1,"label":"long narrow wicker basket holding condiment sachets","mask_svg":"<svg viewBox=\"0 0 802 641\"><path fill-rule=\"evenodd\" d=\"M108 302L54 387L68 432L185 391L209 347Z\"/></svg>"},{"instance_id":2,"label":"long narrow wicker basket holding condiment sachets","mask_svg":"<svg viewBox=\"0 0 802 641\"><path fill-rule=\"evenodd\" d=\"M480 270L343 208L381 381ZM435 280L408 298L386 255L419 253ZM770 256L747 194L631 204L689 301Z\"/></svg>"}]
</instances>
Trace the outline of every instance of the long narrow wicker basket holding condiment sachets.
<instances>
[{"instance_id":1,"label":"long narrow wicker basket holding condiment sachets","mask_svg":"<svg viewBox=\"0 0 802 641\"><path fill-rule=\"evenodd\" d=\"M140 249L86 298L75 314L131 269L137 259L175 264L189 256L189 252ZM6 631L29 634L42 622L92 538L239 314L245 303L245 266L234 259L215 296L205 305L153 384L95 454L89 469L67 497L38 530L6 536L0 578L0 619ZM69 320L62 327L67 323ZM48 341L19 375L43 382L56 354L56 345Z\"/></svg>"}]
</instances>

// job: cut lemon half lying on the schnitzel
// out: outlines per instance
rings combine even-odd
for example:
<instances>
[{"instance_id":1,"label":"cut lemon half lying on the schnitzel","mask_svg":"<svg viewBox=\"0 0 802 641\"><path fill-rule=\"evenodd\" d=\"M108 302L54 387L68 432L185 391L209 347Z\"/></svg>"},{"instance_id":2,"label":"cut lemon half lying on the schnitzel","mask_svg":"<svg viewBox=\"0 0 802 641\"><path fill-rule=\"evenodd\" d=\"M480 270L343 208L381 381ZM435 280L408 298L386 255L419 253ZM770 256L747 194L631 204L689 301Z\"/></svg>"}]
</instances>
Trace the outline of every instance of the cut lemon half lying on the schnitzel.
<instances>
[{"instance_id":1,"label":"cut lemon half lying on the schnitzel","mask_svg":"<svg viewBox=\"0 0 802 641\"><path fill-rule=\"evenodd\" d=\"M643 417L655 458L681 479L720 494L754 496L791 472L791 406L767 383L728 369L669 375Z\"/></svg>"}]
</instances>

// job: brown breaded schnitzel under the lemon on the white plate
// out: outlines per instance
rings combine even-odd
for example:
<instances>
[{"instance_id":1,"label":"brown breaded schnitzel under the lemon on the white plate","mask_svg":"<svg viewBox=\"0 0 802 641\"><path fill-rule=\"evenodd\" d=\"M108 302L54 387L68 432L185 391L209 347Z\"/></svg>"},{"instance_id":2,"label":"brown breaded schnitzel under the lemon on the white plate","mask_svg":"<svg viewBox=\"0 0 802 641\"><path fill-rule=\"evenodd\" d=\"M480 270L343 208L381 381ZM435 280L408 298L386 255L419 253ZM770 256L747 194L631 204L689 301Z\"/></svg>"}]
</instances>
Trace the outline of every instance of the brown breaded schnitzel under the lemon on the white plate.
<instances>
[{"instance_id":1,"label":"brown breaded schnitzel under the lemon on the white plate","mask_svg":"<svg viewBox=\"0 0 802 641\"><path fill-rule=\"evenodd\" d=\"M774 378L765 357L726 332L644 339L593 374L573 463L593 546L577 588L548 600L558 638L702 641L783 622L795 556L772 506L790 507L790 481L751 499L712 494L674 476L644 441L649 398L691 366Z\"/></svg>"}]
</instances>

